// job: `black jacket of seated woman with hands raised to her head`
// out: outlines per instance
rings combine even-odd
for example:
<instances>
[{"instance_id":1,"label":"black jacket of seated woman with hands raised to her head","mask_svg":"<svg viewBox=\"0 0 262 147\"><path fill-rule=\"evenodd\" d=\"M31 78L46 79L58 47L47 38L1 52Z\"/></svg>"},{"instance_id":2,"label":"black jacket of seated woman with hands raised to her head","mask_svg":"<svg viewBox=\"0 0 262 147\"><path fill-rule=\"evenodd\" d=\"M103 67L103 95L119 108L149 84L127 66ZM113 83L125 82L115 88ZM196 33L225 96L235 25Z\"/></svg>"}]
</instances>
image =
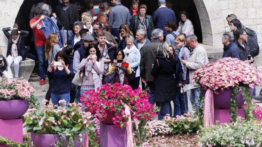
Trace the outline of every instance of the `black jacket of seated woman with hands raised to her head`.
<instances>
[{"instance_id":1,"label":"black jacket of seated woman with hands raised to her head","mask_svg":"<svg viewBox=\"0 0 262 147\"><path fill-rule=\"evenodd\" d=\"M6 52L6 56L10 55L12 49L12 35L8 32L10 31L10 27L9 28L3 28L3 32L4 32L4 35L7 37L8 39L8 45L7 45L7 52ZM26 56L27 56L27 51L26 51L26 45L25 45L25 41L26 41L26 38L28 37L29 35L29 32L28 31L23 31L21 30L21 33L19 35L19 39L17 41L17 50L18 52L20 53L20 55L22 56L22 59L26 59Z\"/></svg>"}]
</instances>

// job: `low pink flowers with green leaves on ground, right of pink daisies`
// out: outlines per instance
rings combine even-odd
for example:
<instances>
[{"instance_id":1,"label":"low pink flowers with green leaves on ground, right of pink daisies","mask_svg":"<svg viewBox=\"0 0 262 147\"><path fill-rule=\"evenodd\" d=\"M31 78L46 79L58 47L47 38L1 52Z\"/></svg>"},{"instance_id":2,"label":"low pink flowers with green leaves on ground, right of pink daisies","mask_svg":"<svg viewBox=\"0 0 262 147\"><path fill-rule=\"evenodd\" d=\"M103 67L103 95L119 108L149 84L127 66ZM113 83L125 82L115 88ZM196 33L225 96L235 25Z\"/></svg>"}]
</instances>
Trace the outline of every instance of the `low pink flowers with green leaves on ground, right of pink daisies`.
<instances>
[{"instance_id":1,"label":"low pink flowers with green leaves on ground, right of pink daisies","mask_svg":"<svg viewBox=\"0 0 262 147\"><path fill-rule=\"evenodd\" d=\"M168 114L164 116L163 121L169 126L170 132L173 134L183 134L197 132L201 122L199 116L195 115L194 111L185 113L183 116L176 118L170 117Z\"/></svg>"}]
</instances>

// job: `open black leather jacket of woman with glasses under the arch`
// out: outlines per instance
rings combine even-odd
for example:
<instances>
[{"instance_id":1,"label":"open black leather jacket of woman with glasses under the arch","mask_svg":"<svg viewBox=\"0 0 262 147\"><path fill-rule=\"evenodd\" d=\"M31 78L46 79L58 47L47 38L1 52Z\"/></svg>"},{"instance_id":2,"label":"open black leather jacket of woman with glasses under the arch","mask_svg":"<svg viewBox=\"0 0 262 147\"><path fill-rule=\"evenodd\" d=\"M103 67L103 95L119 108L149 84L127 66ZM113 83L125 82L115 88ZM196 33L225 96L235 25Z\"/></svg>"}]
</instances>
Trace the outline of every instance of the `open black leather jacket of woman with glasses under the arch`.
<instances>
[{"instance_id":1,"label":"open black leather jacket of woman with glasses under the arch","mask_svg":"<svg viewBox=\"0 0 262 147\"><path fill-rule=\"evenodd\" d=\"M140 23L139 14L132 17L130 29L133 32L134 36L138 30L138 25ZM152 32L154 31L154 23L151 15L145 15L145 25L146 25L146 37L150 39Z\"/></svg>"}]
</instances>

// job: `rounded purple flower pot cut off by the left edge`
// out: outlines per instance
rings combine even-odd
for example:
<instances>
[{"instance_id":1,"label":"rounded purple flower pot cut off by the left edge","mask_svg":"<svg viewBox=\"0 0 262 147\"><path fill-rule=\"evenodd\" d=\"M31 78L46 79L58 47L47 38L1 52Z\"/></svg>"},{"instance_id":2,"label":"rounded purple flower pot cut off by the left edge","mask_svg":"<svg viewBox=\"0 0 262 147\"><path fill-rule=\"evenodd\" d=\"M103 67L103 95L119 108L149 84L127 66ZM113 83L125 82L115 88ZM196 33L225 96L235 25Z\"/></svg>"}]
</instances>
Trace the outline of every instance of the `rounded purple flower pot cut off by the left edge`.
<instances>
[{"instance_id":1,"label":"rounded purple flower pot cut off by the left edge","mask_svg":"<svg viewBox=\"0 0 262 147\"><path fill-rule=\"evenodd\" d=\"M29 108L27 100L15 99L9 101L0 101L0 119L17 119L26 113Z\"/></svg>"}]
</instances>

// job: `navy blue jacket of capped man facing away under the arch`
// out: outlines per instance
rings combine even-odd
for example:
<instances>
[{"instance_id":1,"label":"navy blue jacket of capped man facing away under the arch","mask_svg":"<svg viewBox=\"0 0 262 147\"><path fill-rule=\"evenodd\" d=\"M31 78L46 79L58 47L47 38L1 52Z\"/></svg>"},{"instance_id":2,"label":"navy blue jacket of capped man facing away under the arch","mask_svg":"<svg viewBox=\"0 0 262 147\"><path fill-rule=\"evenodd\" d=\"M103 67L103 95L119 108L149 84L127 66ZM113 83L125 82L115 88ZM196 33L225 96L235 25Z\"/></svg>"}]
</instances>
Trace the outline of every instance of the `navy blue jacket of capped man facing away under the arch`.
<instances>
[{"instance_id":1,"label":"navy blue jacket of capped man facing away under the arch","mask_svg":"<svg viewBox=\"0 0 262 147\"><path fill-rule=\"evenodd\" d=\"M168 33L165 29L165 24L168 20L173 20L174 22L177 22L175 12L168 7L161 7L155 10L155 12L152 15L152 20L155 25L155 29L161 29L164 31L164 36L166 36Z\"/></svg>"}]
</instances>

